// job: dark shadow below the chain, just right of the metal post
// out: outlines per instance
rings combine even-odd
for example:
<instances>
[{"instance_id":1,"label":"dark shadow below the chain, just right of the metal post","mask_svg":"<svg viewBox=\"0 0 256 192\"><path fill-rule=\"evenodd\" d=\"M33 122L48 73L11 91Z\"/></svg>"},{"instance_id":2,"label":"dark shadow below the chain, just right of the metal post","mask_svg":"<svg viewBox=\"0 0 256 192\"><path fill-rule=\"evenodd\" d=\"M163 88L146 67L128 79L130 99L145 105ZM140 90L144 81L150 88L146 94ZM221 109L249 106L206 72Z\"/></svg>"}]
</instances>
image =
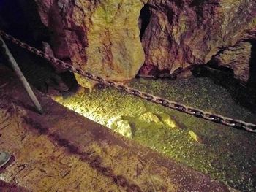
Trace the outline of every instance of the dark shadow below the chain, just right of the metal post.
<instances>
[{"instance_id":1,"label":"dark shadow below the chain, just right of the metal post","mask_svg":"<svg viewBox=\"0 0 256 192\"><path fill-rule=\"evenodd\" d=\"M29 53L10 42L6 43L26 80L42 93L56 96L78 86L72 72L56 73L56 69L44 58ZM0 63L10 68L10 64L3 54L0 54Z\"/></svg>"}]
</instances>

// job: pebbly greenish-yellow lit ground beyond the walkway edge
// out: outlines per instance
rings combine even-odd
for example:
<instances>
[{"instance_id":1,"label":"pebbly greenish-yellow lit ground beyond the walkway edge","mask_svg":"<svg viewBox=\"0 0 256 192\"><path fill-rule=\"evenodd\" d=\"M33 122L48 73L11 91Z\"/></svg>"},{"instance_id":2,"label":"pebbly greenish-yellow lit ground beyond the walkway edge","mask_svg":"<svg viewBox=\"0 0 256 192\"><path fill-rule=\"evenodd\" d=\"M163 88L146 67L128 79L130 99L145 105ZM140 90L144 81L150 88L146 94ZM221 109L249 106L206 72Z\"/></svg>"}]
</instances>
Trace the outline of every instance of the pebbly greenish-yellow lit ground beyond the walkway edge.
<instances>
[{"instance_id":1,"label":"pebbly greenish-yellow lit ground beyond the walkway edge","mask_svg":"<svg viewBox=\"0 0 256 192\"><path fill-rule=\"evenodd\" d=\"M129 85L172 101L256 123L256 115L208 77L135 79ZM64 106L239 191L256 188L256 135L192 117L113 88L54 96Z\"/></svg>"}]
</instances>

